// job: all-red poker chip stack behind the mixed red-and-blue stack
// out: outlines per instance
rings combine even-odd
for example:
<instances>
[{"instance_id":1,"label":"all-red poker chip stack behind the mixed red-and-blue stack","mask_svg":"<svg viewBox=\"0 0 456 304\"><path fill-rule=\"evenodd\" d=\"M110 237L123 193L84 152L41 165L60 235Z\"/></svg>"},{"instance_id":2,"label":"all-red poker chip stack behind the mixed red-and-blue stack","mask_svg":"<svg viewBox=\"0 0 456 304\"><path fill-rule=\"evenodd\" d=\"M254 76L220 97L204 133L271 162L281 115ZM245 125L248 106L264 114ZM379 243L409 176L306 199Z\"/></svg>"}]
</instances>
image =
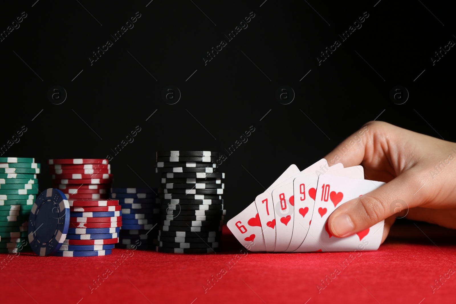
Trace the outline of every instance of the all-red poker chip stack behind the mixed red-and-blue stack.
<instances>
[{"instance_id":1,"label":"all-red poker chip stack behind the mixed red-and-blue stack","mask_svg":"<svg viewBox=\"0 0 456 304\"><path fill-rule=\"evenodd\" d=\"M106 159L49 160L54 188L60 189L69 200L108 198L113 175Z\"/></svg>"}]
</instances>

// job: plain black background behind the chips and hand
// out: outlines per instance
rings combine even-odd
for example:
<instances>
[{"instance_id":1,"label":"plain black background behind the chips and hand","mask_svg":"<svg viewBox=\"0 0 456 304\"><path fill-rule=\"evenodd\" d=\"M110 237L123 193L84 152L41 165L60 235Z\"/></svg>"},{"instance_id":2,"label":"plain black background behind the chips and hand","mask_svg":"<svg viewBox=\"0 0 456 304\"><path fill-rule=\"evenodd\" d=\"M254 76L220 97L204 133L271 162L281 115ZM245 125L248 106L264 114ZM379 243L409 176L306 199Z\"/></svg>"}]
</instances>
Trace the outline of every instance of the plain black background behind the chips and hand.
<instances>
[{"instance_id":1,"label":"plain black background behind the chips and hand","mask_svg":"<svg viewBox=\"0 0 456 304\"><path fill-rule=\"evenodd\" d=\"M112 155L115 186L158 187L156 151L220 151L231 218L290 164L304 169L367 121L455 141L456 51L430 59L456 41L448 2L149 1L3 5L0 31L27 17L0 42L0 144L27 131L1 156L35 157L41 190L51 185L48 159ZM134 27L114 41L136 12ZM228 41L250 12L248 27ZM342 41L364 12L362 27ZM91 65L107 40L113 46ZM205 65L221 40L227 46ZM319 65L335 40L342 45ZM59 105L47 98L55 85L67 92ZM181 92L176 104L161 97L169 85ZM282 85L295 92L290 104L275 98ZM396 85L409 92L404 104L389 98Z\"/></svg>"}]
</instances>

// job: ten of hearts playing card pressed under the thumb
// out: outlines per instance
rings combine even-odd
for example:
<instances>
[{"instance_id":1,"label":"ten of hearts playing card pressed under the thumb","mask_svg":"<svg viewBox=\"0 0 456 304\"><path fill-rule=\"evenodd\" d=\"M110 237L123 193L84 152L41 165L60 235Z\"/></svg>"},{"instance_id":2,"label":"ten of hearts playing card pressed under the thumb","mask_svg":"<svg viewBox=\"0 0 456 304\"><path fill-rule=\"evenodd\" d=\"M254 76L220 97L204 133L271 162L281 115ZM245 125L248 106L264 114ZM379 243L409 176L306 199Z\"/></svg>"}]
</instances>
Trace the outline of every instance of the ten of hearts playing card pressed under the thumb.
<instances>
[{"instance_id":1,"label":"ten of hearts playing card pressed under the thumb","mask_svg":"<svg viewBox=\"0 0 456 304\"><path fill-rule=\"evenodd\" d=\"M324 174L318 178L312 222L307 236L295 252L377 250L383 235L383 222L349 237L329 233L329 215L345 202L377 189L383 182Z\"/></svg>"}]
</instances>

